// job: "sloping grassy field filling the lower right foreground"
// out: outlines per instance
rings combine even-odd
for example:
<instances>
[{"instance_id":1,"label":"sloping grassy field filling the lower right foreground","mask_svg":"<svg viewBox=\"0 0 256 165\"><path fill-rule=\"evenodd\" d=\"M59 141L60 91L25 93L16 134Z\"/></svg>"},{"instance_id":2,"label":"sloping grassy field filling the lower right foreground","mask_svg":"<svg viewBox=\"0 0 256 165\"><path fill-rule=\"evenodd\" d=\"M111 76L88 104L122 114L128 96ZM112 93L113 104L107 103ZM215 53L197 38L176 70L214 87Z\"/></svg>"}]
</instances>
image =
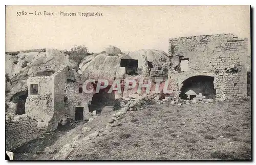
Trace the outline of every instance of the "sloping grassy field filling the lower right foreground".
<instances>
[{"instance_id":1,"label":"sloping grassy field filling the lower right foreground","mask_svg":"<svg viewBox=\"0 0 256 165\"><path fill-rule=\"evenodd\" d=\"M250 159L250 102L150 105L68 159Z\"/></svg>"}]
</instances>

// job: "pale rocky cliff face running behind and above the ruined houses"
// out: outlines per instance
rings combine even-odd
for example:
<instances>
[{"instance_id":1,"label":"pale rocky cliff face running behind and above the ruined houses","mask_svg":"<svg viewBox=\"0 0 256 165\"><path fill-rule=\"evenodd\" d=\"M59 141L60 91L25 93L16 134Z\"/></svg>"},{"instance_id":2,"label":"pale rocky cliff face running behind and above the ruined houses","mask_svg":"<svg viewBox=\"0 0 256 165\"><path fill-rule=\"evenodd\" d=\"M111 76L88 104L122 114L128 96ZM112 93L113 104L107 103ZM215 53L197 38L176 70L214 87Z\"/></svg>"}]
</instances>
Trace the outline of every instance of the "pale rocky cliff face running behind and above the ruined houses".
<instances>
[{"instance_id":1,"label":"pale rocky cliff face running behind and above the ruined houses","mask_svg":"<svg viewBox=\"0 0 256 165\"><path fill-rule=\"evenodd\" d=\"M6 73L12 82L12 85L7 82L6 100L9 101L18 92L28 90L26 80L29 76L44 76L44 72L56 72L63 64L69 66L68 78L72 80L121 78L125 74L125 68L120 67L120 61L126 55L119 48L109 46L103 53L89 55L78 64L71 61L65 51L56 49L6 53ZM142 68L145 76L148 75L147 61L154 66L169 62L164 51L154 49L133 51L128 56L138 60L138 68Z\"/></svg>"}]
</instances>

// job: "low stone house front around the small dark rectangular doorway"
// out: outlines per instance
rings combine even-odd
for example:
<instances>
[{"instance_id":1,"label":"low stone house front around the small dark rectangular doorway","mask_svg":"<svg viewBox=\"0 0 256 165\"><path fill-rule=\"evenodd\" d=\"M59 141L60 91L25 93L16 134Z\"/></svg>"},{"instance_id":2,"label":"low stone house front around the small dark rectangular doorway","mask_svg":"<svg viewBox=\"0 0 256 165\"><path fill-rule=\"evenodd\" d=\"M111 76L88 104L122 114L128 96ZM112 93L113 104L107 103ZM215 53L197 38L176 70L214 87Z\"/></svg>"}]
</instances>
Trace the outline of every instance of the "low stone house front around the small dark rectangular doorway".
<instances>
[{"instance_id":1,"label":"low stone house front around the small dark rectangular doorway","mask_svg":"<svg viewBox=\"0 0 256 165\"><path fill-rule=\"evenodd\" d=\"M83 88L82 93L79 93L79 87ZM92 93L84 93L84 89L93 90L93 86L79 83L79 82L66 82L65 83L65 96L67 97L67 101L65 102L66 113L69 117L75 119L75 108L83 107L83 120L90 118L88 103L92 100Z\"/></svg>"}]
</instances>

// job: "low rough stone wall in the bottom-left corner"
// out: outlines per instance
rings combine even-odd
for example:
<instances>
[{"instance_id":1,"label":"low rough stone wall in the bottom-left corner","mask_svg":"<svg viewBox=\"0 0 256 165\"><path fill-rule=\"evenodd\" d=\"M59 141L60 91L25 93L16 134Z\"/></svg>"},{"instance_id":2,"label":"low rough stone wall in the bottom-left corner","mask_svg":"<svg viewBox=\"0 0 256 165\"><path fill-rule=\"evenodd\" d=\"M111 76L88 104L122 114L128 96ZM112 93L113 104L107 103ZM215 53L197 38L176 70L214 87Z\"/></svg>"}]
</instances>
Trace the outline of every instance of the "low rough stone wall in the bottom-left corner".
<instances>
[{"instance_id":1,"label":"low rough stone wall in the bottom-left corner","mask_svg":"<svg viewBox=\"0 0 256 165\"><path fill-rule=\"evenodd\" d=\"M41 133L37 127L37 120L27 116L27 114L16 116L13 120L6 120L5 126L6 151L36 139Z\"/></svg>"}]
</instances>

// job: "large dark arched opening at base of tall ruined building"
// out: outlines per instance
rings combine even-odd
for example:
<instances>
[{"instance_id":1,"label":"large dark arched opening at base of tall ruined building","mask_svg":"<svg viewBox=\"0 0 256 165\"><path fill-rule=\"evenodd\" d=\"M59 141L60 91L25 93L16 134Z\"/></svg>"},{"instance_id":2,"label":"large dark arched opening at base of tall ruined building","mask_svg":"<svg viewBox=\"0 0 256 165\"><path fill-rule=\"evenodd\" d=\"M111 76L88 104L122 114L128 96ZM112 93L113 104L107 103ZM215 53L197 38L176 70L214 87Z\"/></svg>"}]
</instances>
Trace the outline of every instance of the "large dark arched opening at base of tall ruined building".
<instances>
[{"instance_id":1,"label":"large dark arched opening at base of tall ruined building","mask_svg":"<svg viewBox=\"0 0 256 165\"><path fill-rule=\"evenodd\" d=\"M186 93L191 91L197 95L202 93L202 95L206 98L215 99L216 90L214 89L214 77L205 75L189 77L182 82L180 91L181 99L189 99Z\"/></svg>"}]
</instances>

